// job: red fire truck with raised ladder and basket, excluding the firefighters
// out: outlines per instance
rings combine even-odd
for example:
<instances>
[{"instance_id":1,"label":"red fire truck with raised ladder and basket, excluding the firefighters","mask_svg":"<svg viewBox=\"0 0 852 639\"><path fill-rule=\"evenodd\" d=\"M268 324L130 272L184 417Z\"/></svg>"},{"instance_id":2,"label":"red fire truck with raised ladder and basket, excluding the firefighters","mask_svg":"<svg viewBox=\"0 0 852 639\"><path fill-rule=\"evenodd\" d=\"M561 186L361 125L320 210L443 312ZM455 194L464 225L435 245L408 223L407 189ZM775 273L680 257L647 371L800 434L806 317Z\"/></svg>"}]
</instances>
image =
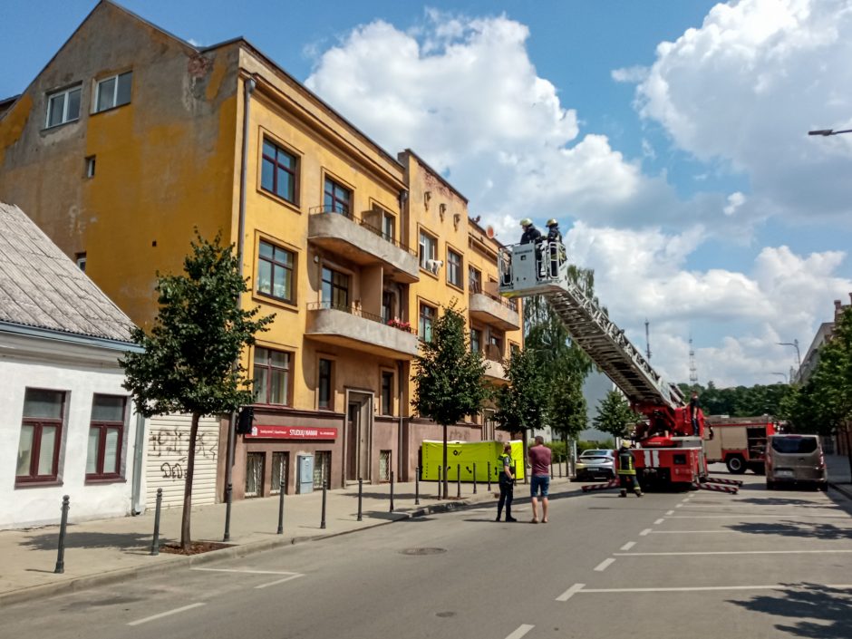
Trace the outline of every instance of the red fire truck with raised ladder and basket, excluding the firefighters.
<instances>
[{"instance_id":1,"label":"red fire truck with raised ladder and basket, excluding the firefighters","mask_svg":"<svg viewBox=\"0 0 852 639\"><path fill-rule=\"evenodd\" d=\"M680 389L654 371L624 330L568 276L562 243L502 247L498 259L500 294L545 297L574 343L646 418L634 435L636 476L643 489L694 489L706 481L702 411L693 427Z\"/></svg>"}]
</instances>

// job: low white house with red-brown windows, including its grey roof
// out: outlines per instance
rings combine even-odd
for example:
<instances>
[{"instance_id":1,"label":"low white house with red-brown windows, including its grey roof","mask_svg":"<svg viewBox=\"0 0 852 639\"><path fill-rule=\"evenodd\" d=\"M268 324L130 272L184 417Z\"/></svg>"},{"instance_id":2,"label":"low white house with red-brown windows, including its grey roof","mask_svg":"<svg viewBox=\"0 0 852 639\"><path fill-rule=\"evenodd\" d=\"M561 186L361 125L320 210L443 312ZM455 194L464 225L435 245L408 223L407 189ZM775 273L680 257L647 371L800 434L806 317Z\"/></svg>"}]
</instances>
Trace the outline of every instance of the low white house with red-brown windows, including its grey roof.
<instances>
[{"instance_id":1,"label":"low white house with red-brown windows, including its grey roof","mask_svg":"<svg viewBox=\"0 0 852 639\"><path fill-rule=\"evenodd\" d=\"M0 203L0 528L144 508L145 421L118 363L133 324L15 206Z\"/></svg>"}]
</instances>

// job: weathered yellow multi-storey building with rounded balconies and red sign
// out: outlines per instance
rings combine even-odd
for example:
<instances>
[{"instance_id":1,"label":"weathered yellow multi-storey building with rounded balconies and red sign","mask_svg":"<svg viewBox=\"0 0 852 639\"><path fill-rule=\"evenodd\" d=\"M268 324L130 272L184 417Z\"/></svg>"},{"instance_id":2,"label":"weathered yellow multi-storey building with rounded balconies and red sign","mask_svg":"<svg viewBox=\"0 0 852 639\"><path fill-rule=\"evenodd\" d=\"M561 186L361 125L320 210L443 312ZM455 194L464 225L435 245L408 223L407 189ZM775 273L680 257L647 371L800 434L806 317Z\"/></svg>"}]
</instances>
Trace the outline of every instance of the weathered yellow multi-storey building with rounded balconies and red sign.
<instances>
[{"instance_id":1,"label":"weathered yellow multi-storey building with rounded balconies and red sign","mask_svg":"<svg viewBox=\"0 0 852 639\"><path fill-rule=\"evenodd\" d=\"M382 150L247 41L198 48L107 0L0 102L0 200L143 326L194 228L237 246L243 304L276 314L245 353L256 430L237 437L237 498L303 489L299 470L411 479L440 432L411 417L411 360L453 299L492 381L521 346L499 244L423 160ZM493 436L488 412L450 430ZM227 439L223 418L219 495Z\"/></svg>"}]
</instances>

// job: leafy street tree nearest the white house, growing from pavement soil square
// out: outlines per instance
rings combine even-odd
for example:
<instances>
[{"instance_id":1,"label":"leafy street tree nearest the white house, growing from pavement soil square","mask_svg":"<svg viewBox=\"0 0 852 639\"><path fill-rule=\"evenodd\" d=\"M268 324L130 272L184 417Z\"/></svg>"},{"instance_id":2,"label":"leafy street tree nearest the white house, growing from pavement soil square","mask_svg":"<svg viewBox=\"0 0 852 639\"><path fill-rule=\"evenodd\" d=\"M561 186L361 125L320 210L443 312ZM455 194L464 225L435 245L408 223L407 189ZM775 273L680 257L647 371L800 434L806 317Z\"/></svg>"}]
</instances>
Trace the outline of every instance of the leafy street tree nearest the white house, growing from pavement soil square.
<instances>
[{"instance_id":1,"label":"leafy street tree nearest the white house, growing from pavement soil square","mask_svg":"<svg viewBox=\"0 0 852 639\"><path fill-rule=\"evenodd\" d=\"M180 547L189 550L192 475L198 420L204 415L236 411L252 402L251 382L239 354L254 335L266 331L274 315L254 319L258 308L240 307L247 280L239 275L233 246L220 245L221 234L208 242L198 235L184 258L184 275L160 276L160 311L150 334L137 328L133 340L144 350L121 360L137 410L146 417L169 412L192 415L183 493Z\"/></svg>"}]
</instances>

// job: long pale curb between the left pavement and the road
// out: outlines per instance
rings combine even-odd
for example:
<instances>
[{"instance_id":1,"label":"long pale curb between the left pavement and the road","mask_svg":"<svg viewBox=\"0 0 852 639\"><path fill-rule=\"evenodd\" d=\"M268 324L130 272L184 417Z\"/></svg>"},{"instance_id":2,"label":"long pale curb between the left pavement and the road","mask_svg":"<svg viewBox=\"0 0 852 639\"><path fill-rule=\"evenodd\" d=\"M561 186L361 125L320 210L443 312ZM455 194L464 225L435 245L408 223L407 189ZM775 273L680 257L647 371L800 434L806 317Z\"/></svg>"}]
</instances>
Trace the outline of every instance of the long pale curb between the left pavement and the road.
<instances>
[{"instance_id":1,"label":"long pale curb between the left pavement and the road","mask_svg":"<svg viewBox=\"0 0 852 639\"><path fill-rule=\"evenodd\" d=\"M163 558L160 559L156 564L119 568L116 570L110 570L108 572L100 573L98 575L83 575L78 577L72 577L70 579L63 579L52 584L29 586L21 590L13 590L5 593L0 593L0 605L5 606L19 604L21 602L29 601L35 598L58 594L64 595L97 586L109 586L110 584L115 584L117 582L122 581L130 581L131 579L137 579L143 576L175 571L179 568L203 566L205 564L219 561L221 559L247 557L248 555L254 555L255 553L264 552L265 550L273 550L277 547L295 546L295 544L301 544L306 541L320 541L322 539L329 539L331 537L341 537L343 535L350 535L352 533L361 532L362 530L369 530L371 528L387 526L389 524L395 523L397 521L403 521L405 519L427 517L431 514L450 512L450 510L460 510L462 508L479 506L479 504L485 503L489 499L493 498L490 496L489 493L486 493L485 495L483 495L482 498L475 497L473 499L450 500L440 504L430 504L428 506L415 508L410 511L393 511L391 513L391 515L394 516L392 519L367 523L359 528L341 530L340 532L331 532L326 534L303 537L280 537L275 539L260 539L258 541L249 541L246 544L235 544L227 548L211 550L207 553L202 553L200 555L169 555L167 557L165 556L165 554L161 554L158 557Z\"/></svg>"}]
</instances>

